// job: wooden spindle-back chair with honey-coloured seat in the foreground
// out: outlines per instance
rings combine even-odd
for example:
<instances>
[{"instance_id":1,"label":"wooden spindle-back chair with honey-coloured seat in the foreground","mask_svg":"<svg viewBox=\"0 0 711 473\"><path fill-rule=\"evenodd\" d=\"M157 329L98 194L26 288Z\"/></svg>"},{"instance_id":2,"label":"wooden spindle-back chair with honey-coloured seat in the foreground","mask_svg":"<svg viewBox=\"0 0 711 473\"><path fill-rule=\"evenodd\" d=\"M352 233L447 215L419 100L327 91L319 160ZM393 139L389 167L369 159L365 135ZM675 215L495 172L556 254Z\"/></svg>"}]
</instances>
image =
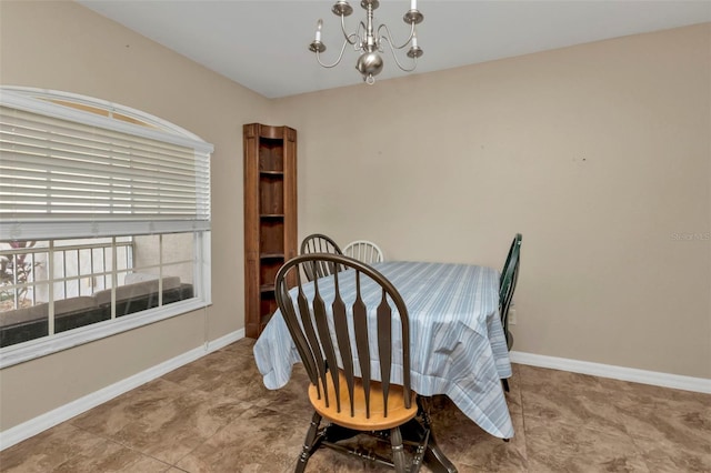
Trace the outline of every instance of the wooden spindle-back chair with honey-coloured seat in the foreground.
<instances>
[{"instance_id":1,"label":"wooden spindle-back chair with honey-coloured seat in the foreground","mask_svg":"<svg viewBox=\"0 0 711 473\"><path fill-rule=\"evenodd\" d=\"M307 266L314 272L319 265L331 266L330 275L306 283L301 272L308 273ZM334 271L336 265L342 271ZM287 278L291 272L297 274L297 286L290 295ZM372 284L377 284L379 295L365 306L369 298L361 298L361 290L372 289ZM280 269L276 292L311 381L308 396L314 410L296 471L303 472L317 450L329 447L390 465L398 472L417 472L430 437L430 422L410 388L408 310L398 290L362 262L312 253L297 256ZM322 299L327 293L330 295ZM347 304L343 299L356 302ZM393 331L400 332L402 340L397 348L392 344ZM393 359L402 360L403 379L398 383L391 376ZM382 376L377 379L378 374ZM375 439L375 446L368 450L361 443L337 444L360 434ZM353 441L358 439L362 435ZM383 442L388 447L378 449Z\"/></svg>"}]
</instances>

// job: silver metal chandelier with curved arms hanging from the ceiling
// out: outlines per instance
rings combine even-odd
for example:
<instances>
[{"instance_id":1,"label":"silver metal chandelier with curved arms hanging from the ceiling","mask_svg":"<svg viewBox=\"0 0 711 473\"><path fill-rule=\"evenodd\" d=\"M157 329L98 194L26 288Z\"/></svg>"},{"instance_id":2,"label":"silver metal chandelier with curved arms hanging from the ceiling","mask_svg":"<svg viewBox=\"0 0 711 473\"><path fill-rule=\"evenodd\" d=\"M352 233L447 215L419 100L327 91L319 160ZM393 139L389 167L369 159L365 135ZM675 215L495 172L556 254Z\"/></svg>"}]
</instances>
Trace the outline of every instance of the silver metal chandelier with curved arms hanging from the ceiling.
<instances>
[{"instance_id":1,"label":"silver metal chandelier with curved arms hanging from the ceiling","mask_svg":"<svg viewBox=\"0 0 711 473\"><path fill-rule=\"evenodd\" d=\"M341 17L341 30L343 31L343 46L341 47L341 53L336 62L331 64L323 63L321 61L321 53L326 51L326 44L321 42L321 29L323 28L323 20L319 20L316 27L316 38L311 41L309 50L316 53L316 59L324 68L333 68L341 62L343 58L343 51L348 44L353 47L353 50L360 52L360 57L356 62L356 69L363 76L363 80L368 84L375 82L375 76L382 71L383 61L380 56L384 51L383 44L388 44L392 57L395 60L398 67L405 71L412 72L418 66L418 58L422 56L422 49L418 46L418 36L415 24L420 23L424 16L420 13L417 7L417 0L410 0L410 10L404 13L402 20L410 24L410 36L402 46L393 44L392 34L388 29L388 26L380 24L375 28L373 24L373 11L380 6L378 0L361 0L360 6L365 10L365 21L361 21L358 24L358 29L353 33L349 33L346 30L346 17L353 12L353 8L344 0L339 0L333 4L331 11L333 14ZM407 47L410 49L407 52L408 58L412 60L410 67L405 67L398 60L395 50L401 50Z\"/></svg>"}]
</instances>

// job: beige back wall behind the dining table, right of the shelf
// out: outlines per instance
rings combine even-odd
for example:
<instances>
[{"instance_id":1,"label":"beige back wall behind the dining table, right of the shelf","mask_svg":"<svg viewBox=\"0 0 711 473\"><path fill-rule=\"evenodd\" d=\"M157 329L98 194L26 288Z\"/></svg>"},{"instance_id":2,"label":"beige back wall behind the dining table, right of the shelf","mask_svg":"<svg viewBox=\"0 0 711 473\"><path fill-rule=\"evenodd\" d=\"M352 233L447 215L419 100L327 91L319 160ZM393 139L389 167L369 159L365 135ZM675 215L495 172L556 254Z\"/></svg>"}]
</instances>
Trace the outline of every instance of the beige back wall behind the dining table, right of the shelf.
<instances>
[{"instance_id":1,"label":"beige back wall behind the dining table, right of the shelf","mask_svg":"<svg viewBox=\"0 0 711 473\"><path fill-rule=\"evenodd\" d=\"M280 100L300 234L500 268L521 232L514 350L711 379L710 63L705 24Z\"/></svg>"}]
</instances>

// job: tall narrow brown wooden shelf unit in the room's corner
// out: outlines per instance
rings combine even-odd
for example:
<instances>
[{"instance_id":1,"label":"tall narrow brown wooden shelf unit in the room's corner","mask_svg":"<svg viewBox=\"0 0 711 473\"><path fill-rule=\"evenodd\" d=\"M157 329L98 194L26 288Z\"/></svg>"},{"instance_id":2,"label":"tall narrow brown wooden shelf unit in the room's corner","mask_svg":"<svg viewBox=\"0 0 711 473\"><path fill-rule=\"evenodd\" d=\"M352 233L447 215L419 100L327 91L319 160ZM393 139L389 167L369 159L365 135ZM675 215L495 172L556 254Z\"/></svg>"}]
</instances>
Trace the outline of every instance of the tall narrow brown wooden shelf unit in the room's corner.
<instances>
[{"instance_id":1,"label":"tall narrow brown wooden shelf unit in the room's corner","mask_svg":"<svg viewBox=\"0 0 711 473\"><path fill-rule=\"evenodd\" d=\"M274 278L297 255L297 130L249 123L244 140L244 331L277 310Z\"/></svg>"}]
</instances>

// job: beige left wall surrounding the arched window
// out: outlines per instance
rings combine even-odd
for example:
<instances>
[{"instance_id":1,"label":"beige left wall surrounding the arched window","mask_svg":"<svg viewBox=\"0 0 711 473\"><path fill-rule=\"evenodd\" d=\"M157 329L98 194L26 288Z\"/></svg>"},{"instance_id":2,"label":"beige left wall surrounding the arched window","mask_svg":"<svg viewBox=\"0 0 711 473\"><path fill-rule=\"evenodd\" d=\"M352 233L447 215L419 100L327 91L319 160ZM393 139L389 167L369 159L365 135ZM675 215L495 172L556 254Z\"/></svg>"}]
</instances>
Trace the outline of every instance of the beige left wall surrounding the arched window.
<instances>
[{"instance_id":1,"label":"beige left wall surrounding the arched window","mask_svg":"<svg viewBox=\"0 0 711 473\"><path fill-rule=\"evenodd\" d=\"M0 2L0 83L106 99L214 144L213 305L0 372L0 430L243 328L242 124L272 105L69 1Z\"/></svg>"}]
</instances>

